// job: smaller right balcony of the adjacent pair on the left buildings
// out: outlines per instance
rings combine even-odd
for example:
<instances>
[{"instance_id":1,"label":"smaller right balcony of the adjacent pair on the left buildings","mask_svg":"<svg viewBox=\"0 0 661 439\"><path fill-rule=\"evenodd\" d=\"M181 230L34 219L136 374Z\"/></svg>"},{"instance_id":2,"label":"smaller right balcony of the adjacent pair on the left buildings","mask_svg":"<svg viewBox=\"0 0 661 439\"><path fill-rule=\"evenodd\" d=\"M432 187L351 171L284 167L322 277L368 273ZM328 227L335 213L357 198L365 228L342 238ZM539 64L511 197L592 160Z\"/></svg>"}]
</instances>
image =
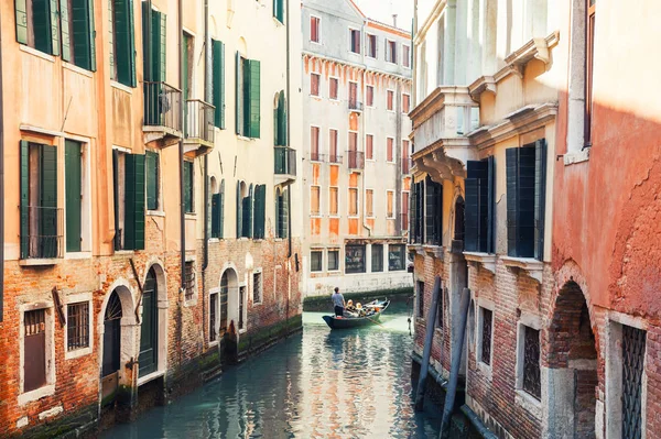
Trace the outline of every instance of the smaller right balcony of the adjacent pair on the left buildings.
<instances>
[{"instance_id":1,"label":"smaller right balcony of the adjacent pair on the left buildings","mask_svg":"<svg viewBox=\"0 0 661 439\"><path fill-rule=\"evenodd\" d=\"M204 155L214 147L215 107L201 99L186 101L184 152L195 151L196 155Z\"/></svg>"}]
</instances>

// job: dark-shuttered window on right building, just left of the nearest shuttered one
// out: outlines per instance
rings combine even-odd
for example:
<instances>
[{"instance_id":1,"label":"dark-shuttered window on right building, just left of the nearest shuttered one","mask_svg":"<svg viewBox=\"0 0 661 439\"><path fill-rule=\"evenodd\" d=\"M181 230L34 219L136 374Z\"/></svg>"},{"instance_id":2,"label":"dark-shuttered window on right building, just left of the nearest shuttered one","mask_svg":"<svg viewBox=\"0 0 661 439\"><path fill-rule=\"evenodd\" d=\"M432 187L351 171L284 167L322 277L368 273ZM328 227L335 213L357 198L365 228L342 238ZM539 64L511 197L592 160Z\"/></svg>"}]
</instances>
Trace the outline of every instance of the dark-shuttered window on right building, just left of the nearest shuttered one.
<instances>
[{"instance_id":1,"label":"dark-shuttered window on right building, just left of the nearest shuttered one","mask_svg":"<svg viewBox=\"0 0 661 439\"><path fill-rule=\"evenodd\" d=\"M496 252L496 168L494 156L466 165L465 250Z\"/></svg>"}]
</instances>

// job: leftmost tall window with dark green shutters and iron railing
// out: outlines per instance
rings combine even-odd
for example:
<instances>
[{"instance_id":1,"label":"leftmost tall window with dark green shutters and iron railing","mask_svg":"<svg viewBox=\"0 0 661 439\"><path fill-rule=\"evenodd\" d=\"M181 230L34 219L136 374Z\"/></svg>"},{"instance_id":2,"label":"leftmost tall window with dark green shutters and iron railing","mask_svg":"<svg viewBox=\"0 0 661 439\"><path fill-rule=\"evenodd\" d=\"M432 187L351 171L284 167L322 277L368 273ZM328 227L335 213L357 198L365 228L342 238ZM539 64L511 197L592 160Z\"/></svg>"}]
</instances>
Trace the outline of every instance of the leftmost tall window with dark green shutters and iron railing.
<instances>
[{"instance_id":1,"label":"leftmost tall window with dark green shutters and iron railing","mask_svg":"<svg viewBox=\"0 0 661 439\"><path fill-rule=\"evenodd\" d=\"M57 208L57 149L21 141L20 163L21 259L61 257L63 218Z\"/></svg>"}]
</instances>

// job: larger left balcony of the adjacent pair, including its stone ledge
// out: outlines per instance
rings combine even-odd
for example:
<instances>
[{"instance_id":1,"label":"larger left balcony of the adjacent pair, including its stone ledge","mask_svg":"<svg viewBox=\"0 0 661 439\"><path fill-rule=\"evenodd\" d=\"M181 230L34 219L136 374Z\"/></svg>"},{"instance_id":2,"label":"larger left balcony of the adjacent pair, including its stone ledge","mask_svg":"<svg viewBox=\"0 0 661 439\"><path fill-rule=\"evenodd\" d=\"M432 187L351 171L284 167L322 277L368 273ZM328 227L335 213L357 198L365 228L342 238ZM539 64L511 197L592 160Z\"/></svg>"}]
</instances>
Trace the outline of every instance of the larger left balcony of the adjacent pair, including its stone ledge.
<instances>
[{"instance_id":1,"label":"larger left balcony of the adjacent pair, including its stone ledge","mask_svg":"<svg viewBox=\"0 0 661 439\"><path fill-rule=\"evenodd\" d=\"M165 83L143 83L144 143L170 146L182 139L182 91Z\"/></svg>"}]
</instances>

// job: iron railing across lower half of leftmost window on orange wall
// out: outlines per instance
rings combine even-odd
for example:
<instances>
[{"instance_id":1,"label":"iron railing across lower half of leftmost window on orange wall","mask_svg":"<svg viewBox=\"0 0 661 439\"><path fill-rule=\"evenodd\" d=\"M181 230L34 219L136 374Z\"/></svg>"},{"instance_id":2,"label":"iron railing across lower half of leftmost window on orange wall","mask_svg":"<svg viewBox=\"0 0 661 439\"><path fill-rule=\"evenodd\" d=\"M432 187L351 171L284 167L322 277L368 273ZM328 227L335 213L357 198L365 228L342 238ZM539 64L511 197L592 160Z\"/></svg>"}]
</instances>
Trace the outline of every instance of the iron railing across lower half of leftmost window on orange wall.
<instances>
[{"instance_id":1,"label":"iron railing across lower half of leftmost window on orange wall","mask_svg":"<svg viewBox=\"0 0 661 439\"><path fill-rule=\"evenodd\" d=\"M40 206L21 209L21 259L62 257L64 209Z\"/></svg>"}]
</instances>

